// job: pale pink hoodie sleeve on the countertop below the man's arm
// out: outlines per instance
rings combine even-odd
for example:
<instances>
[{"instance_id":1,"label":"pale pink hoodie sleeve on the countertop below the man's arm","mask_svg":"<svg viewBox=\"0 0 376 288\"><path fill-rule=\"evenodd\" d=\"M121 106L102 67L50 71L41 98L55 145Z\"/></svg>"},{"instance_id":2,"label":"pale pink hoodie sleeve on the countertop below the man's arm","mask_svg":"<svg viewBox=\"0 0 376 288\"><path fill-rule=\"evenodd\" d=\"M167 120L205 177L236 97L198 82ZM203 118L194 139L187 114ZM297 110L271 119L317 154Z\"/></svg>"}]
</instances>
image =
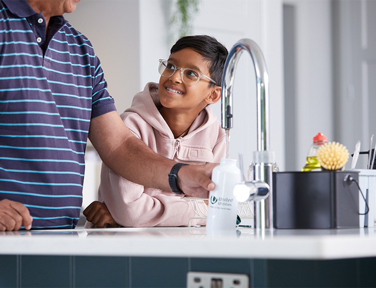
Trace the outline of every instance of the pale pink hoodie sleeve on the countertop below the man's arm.
<instances>
[{"instance_id":1,"label":"pale pink hoodie sleeve on the countertop below the man's arm","mask_svg":"<svg viewBox=\"0 0 376 288\"><path fill-rule=\"evenodd\" d=\"M188 226L191 218L198 217L189 199L171 192L153 194L145 188L119 176L102 164L100 198L114 220L124 227ZM166 195L170 194L170 195ZM206 211L204 203L200 209ZM191 225L205 225L206 219L192 219Z\"/></svg>"}]
</instances>

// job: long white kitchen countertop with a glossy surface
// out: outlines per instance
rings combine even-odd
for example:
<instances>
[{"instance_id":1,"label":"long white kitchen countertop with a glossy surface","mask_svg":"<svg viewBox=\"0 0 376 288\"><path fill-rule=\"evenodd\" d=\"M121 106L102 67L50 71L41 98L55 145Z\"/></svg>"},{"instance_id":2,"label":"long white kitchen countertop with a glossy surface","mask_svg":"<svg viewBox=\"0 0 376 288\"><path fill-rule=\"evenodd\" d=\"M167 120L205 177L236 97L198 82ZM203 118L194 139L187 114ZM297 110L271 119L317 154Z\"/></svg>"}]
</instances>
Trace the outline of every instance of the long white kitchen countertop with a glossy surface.
<instances>
[{"instance_id":1,"label":"long white kitchen countertop with a glossy surface","mask_svg":"<svg viewBox=\"0 0 376 288\"><path fill-rule=\"evenodd\" d=\"M205 227L0 232L0 254L204 258L341 259L376 257L376 229L241 227L209 236Z\"/></svg>"}]
</instances>

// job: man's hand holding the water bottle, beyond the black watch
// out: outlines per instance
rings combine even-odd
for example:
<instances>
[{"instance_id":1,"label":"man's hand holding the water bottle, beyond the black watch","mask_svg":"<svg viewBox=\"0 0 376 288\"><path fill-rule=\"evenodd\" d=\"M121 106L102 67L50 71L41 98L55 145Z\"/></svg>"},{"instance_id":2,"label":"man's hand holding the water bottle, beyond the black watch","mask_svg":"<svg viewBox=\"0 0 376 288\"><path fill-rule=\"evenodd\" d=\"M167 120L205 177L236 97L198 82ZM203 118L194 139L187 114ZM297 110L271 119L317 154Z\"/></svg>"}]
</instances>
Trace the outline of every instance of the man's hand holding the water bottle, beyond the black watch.
<instances>
[{"instance_id":1,"label":"man's hand holding the water bottle, beyond the black watch","mask_svg":"<svg viewBox=\"0 0 376 288\"><path fill-rule=\"evenodd\" d=\"M219 163L204 165L184 165L177 172L177 185L189 196L209 198L209 192L215 188L211 180L212 171Z\"/></svg>"}]
</instances>

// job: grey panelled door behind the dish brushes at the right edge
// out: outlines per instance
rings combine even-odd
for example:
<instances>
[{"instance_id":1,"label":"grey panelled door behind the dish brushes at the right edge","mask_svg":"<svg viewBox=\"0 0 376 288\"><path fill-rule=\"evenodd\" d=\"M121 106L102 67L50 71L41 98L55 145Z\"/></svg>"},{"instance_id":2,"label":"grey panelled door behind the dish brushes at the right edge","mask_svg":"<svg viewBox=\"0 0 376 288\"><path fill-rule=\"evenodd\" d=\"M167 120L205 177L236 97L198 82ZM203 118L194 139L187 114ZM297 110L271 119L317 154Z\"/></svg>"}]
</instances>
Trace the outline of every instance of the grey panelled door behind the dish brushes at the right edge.
<instances>
[{"instance_id":1,"label":"grey panelled door behind the dish brushes at the right edge","mask_svg":"<svg viewBox=\"0 0 376 288\"><path fill-rule=\"evenodd\" d=\"M350 154L357 140L368 151L372 134L372 148L376 141L376 1L336 0L332 8L335 138ZM359 156L356 168L366 165Z\"/></svg>"}]
</instances>

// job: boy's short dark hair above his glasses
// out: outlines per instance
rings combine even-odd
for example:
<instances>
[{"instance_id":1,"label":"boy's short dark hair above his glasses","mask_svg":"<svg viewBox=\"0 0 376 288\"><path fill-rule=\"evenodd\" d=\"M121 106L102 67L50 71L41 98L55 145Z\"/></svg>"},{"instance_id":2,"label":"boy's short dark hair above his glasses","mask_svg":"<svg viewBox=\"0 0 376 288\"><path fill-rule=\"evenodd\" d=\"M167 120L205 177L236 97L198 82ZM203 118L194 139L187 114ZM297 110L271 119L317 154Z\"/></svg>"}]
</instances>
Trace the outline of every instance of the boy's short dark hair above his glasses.
<instances>
[{"instance_id":1,"label":"boy's short dark hair above his glasses","mask_svg":"<svg viewBox=\"0 0 376 288\"><path fill-rule=\"evenodd\" d=\"M176 41L171 47L170 54L184 48L191 48L199 53L205 60L209 61L210 78L222 86L222 74L229 52L226 47L215 38L207 35L185 36ZM209 76L209 75L208 75ZM215 86L210 82L210 87Z\"/></svg>"}]
</instances>

